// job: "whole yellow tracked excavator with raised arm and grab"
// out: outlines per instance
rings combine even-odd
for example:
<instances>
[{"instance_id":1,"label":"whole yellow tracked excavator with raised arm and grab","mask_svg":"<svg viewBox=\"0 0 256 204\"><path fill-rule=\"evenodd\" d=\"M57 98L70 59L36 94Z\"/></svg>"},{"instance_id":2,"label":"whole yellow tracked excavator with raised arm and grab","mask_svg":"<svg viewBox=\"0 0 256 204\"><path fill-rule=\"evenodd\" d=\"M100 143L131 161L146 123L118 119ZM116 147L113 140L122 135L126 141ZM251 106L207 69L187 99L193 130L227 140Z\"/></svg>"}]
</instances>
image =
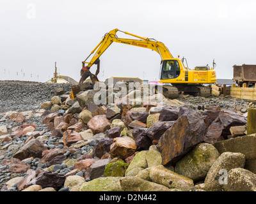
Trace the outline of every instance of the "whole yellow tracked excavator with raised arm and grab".
<instances>
[{"instance_id":1,"label":"whole yellow tracked excavator with raised arm and grab","mask_svg":"<svg viewBox=\"0 0 256 204\"><path fill-rule=\"evenodd\" d=\"M140 40L118 38L118 36L116 36L118 31L139 38ZM97 78L100 69L99 57L113 42L148 48L156 51L160 55L161 75L159 82L163 83L163 95L165 97L172 99L177 98L179 92L193 94L194 96L207 97L211 95L211 87L204 86L203 84L213 84L216 82L216 71L214 70L216 64L214 61L213 68L210 68L207 65L188 69L184 65L186 59L184 59L184 57L182 59L179 57L174 58L164 43L154 40L153 38L144 38L118 29L113 29L112 31L109 31L109 33L106 33L100 43L92 50L91 54L82 62L83 68L81 69L81 80L79 81L79 84L83 83L88 77L91 78L93 85L95 82L99 82ZM97 51L93 55L91 61L86 62L95 50ZM85 64L87 65L85 66ZM97 71L95 74L90 72L90 67L93 64L97 64Z\"/></svg>"}]
</instances>

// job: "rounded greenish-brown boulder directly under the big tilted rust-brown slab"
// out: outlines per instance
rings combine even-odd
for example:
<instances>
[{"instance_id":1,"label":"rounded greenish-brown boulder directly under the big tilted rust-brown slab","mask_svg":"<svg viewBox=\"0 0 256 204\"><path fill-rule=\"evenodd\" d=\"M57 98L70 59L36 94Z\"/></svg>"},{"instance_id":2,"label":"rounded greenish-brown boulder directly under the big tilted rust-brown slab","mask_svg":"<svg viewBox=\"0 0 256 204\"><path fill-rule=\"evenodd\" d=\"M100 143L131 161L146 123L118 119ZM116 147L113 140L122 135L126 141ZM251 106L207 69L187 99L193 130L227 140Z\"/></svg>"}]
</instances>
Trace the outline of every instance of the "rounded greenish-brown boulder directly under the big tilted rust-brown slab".
<instances>
[{"instance_id":1,"label":"rounded greenish-brown boulder directly under the big tilted rust-brown slab","mask_svg":"<svg viewBox=\"0 0 256 204\"><path fill-rule=\"evenodd\" d=\"M220 153L209 143L200 143L176 163L175 172L194 181L204 180Z\"/></svg>"}]
</instances>

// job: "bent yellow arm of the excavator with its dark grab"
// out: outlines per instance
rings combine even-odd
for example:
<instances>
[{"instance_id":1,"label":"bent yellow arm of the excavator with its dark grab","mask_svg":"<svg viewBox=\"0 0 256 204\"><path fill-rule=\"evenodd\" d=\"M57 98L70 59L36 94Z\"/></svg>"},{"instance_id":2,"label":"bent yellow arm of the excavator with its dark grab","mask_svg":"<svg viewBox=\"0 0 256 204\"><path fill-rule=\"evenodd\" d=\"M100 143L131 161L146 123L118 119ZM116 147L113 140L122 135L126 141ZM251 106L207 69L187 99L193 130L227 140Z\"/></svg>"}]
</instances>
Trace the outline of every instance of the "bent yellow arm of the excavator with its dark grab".
<instances>
[{"instance_id":1,"label":"bent yellow arm of the excavator with its dark grab","mask_svg":"<svg viewBox=\"0 0 256 204\"><path fill-rule=\"evenodd\" d=\"M144 38L141 36L137 36L135 34L131 34L128 32L120 31L122 33L128 34L129 36L134 36L136 38L140 38L140 40L134 40L134 39L125 39L125 38L118 38L116 36L116 33L120 31L118 29L113 29L112 31L109 31L109 33L106 33L100 43L92 50L91 54L82 62L83 63L83 68L81 69L81 82L83 82L87 77L91 77L93 84L97 80L97 74L99 73L99 57L106 51L106 49L113 43L122 43L125 45L133 45L136 47L143 47L143 48L148 48L151 50L156 51L160 56L161 59L170 59L173 58L172 54L168 50L168 48L161 42L156 41L152 38ZM96 51L97 50L97 51ZM95 52L96 51L96 52ZM95 54L94 54L95 53ZM92 59L90 62L86 62L86 60L92 55ZM85 66L87 64L87 66ZM95 75L90 73L89 69L93 64L97 64L97 71Z\"/></svg>"}]
</instances>

